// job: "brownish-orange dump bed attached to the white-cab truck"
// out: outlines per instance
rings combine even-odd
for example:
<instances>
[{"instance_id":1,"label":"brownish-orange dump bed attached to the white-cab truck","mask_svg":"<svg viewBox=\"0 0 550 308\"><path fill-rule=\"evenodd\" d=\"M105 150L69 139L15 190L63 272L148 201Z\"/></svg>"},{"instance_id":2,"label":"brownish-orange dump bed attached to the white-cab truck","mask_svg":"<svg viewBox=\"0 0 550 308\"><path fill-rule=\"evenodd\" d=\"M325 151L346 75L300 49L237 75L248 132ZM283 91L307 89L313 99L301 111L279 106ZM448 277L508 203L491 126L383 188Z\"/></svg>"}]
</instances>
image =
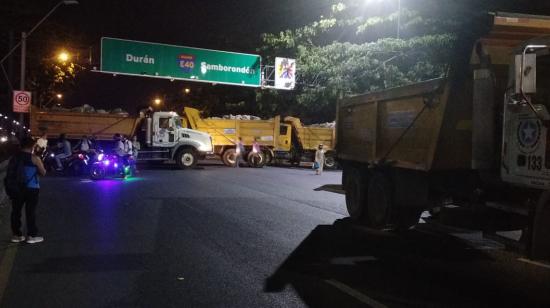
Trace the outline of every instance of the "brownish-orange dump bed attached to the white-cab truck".
<instances>
[{"instance_id":1,"label":"brownish-orange dump bed attached to the white-cab truck","mask_svg":"<svg viewBox=\"0 0 550 308\"><path fill-rule=\"evenodd\" d=\"M138 118L121 114L53 112L31 109L31 131L39 135L46 131L50 136L66 134L69 139L94 135L98 140L112 140L114 134L132 136Z\"/></svg>"}]
</instances>

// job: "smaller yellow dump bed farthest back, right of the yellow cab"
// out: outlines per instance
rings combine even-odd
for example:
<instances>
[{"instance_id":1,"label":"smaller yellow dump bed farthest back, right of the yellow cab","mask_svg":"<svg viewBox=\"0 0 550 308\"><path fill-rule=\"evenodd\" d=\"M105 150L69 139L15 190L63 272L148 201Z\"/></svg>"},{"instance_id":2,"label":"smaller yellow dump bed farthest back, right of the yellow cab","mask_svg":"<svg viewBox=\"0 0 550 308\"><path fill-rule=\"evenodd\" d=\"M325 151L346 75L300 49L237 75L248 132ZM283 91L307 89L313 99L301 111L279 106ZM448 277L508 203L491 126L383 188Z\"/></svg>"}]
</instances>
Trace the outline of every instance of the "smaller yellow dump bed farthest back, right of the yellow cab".
<instances>
[{"instance_id":1,"label":"smaller yellow dump bed farthest back, right of the yellow cab","mask_svg":"<svg viewBox=\"0 0 550 308\"><path fill-rule=\"evenodd\" d=\"M303 126L300 119L294 117L285 117L285 123L292 126L304 150L315 150L319 144L327 151L334 149L334 128Z\"/></svg>"}]
</instances>

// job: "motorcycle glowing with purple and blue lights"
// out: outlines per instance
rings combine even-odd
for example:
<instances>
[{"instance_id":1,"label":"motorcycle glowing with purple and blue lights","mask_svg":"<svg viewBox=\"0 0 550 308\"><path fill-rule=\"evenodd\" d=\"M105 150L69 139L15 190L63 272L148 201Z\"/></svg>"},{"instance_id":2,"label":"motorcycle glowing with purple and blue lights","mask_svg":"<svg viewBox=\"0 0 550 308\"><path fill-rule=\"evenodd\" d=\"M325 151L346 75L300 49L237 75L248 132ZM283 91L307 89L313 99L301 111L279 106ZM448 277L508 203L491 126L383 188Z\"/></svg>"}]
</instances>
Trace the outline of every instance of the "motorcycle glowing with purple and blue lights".
<instances>
[{"instance_id":1,"label":"motorcycle glowing with purple and blue lights","mask_svg":"<svg viewBox=\"0 0 550 308\"><path fill-rule=\"evenodd\" d=\"M106 177L125 179L133 174L133 158L120 157L116 154L97 154L97 160L91 165L90 177L92 180L101 180Z\"/></svg>"}]
</instances>

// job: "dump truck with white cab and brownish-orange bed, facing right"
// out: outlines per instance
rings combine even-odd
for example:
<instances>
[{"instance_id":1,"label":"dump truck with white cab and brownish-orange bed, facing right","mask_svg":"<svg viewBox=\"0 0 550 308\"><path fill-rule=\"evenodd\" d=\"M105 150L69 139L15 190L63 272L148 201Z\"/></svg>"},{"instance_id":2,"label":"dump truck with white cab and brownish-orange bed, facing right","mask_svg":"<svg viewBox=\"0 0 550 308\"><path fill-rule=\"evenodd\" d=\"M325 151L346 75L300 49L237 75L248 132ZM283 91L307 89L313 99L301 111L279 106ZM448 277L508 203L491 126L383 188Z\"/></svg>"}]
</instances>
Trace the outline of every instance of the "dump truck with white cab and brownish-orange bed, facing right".
<instances>
[{"instance_id":1,"label":"dump truck with white cab and brownish-orange bed, facing right","mask_svg":"<svg viewBox=\"0 0 550 308\"><path fill-rule=\"evenodd\" d=\"M213 152L212 138L205 132L182 126L175 112L154 112L140 117L128 114L102 114L46 111L31 108L31 132L49 136L66 134L68 139L94 136L113 140L115 134L137 136L141 143L138 161L175 161L182 169L192 168L199 159Z\"/></svg>"}]
</instances>

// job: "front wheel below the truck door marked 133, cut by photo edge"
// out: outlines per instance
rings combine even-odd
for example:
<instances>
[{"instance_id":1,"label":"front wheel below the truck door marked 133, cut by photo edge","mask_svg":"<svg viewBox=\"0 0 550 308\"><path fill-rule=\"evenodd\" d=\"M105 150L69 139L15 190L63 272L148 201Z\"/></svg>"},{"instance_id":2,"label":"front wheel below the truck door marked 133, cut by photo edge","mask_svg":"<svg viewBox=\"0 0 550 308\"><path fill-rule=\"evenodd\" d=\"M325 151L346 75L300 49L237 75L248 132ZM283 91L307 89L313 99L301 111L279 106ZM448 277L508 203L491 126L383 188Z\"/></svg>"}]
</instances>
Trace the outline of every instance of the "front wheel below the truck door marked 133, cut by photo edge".
<instances>
[{"instance_id":1,"label":"front wheel below the truck door marked 133, cut by photo edge","mask_svg":"<svg viewBox=\"0 0 550 308\"><path fill-rule=\"evenodd\" d=\"M550 192L544 192L533 218L530 257L550 261Z\"/></svg>"}]
</instances>

